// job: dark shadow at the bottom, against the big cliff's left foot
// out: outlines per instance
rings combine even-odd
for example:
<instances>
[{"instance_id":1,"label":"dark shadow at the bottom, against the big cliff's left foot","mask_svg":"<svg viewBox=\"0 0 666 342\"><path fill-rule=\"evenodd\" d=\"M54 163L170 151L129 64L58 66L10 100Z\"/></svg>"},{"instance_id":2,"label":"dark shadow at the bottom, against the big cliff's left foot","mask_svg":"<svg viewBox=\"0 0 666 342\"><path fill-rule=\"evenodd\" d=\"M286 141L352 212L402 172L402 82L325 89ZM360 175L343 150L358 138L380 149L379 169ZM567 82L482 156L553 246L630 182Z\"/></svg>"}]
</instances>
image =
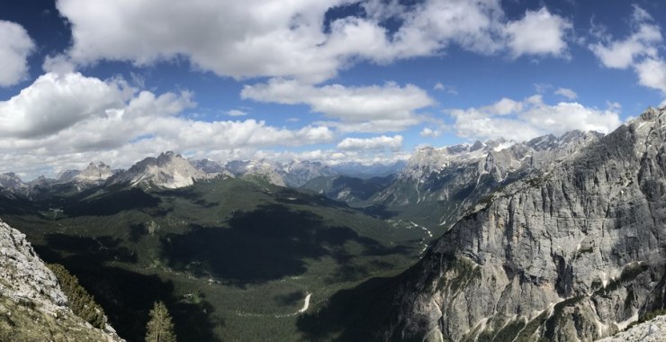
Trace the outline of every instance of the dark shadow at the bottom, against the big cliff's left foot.
<instances>
[{"instance_id":1,"label":"dark shadow at the bottom, against the big cliff's left foot","mask_svg":"<svg viewBox=\"0 0 666 342\"><path fill-rule=\"evenodd\" d=\"M374 341L392 312L398 277L373 278L341 290L324 306L299 317L297 327L309 341Z\"/></svg>"}]
</instances>

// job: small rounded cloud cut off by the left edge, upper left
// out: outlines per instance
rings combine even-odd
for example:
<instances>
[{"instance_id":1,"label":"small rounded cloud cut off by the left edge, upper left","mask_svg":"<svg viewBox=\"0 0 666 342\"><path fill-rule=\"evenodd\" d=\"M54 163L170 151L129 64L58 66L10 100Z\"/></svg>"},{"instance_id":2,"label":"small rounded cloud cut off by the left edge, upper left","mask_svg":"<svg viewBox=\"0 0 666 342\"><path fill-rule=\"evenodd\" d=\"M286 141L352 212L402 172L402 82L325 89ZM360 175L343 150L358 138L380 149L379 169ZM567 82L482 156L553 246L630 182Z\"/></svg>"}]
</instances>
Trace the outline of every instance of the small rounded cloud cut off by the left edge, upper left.
<instances>
[{"instance_id":1,"label":"small rounded cloud cut off by the left edge, upper left","mask_svg":"<svg viewBox=\"0 0 666 342\"><path fill-rule=\"evenodd\" d=\"M15 85L28 76L27 59L34 49L23 26L0 20L0 86Z\"/></svg>"}]
</instances>

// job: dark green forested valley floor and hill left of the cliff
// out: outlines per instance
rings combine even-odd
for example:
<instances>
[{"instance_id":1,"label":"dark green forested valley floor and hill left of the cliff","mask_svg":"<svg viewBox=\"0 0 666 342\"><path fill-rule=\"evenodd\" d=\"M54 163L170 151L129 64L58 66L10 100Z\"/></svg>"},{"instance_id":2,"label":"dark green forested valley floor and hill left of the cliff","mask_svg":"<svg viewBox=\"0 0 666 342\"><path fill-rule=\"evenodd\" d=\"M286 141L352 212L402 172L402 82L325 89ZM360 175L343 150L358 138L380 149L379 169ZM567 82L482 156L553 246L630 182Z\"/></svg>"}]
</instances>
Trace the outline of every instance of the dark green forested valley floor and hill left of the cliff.
<instances>
[{"instance_id":1,"label":"dark green forested valley floor and hill left of the cliff","mask_svg":"<svg viewBox=\"0 0 666 342\"><path fill-rule=\"evenodd\" d=\"M313 338L308 321L290 315L306 293L314 312L342 289L395 275L416 260L424 234L319 195L238 179L0 202L0 215L41 257L78 275L130 340L142 338L157 299L184 340Z\"/></svg>"}]
</instances>

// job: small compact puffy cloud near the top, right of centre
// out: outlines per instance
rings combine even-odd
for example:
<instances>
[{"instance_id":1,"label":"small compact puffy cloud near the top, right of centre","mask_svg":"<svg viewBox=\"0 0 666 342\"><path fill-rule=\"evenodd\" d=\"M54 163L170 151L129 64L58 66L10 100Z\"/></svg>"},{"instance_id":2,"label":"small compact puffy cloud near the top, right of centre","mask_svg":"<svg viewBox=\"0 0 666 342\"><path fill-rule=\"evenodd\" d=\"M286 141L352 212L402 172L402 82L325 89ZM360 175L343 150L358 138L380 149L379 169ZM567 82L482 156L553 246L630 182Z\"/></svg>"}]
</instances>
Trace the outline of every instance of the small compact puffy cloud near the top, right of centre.
<instances>
[{"instance_id":1,"label":"small compact puffy cloud near the top, right of centre","mask_svg":"<svg viewBox=\"0 0 666 342\"><path fill-rule=\"evenodd\" d=\"M572 23L559 15L551 14L543 7L539 11L527 11L525 17L506 25L509 49L514 57L522 55L563 56L567 43L564 41Z\"/></svg>"}]
</instances>

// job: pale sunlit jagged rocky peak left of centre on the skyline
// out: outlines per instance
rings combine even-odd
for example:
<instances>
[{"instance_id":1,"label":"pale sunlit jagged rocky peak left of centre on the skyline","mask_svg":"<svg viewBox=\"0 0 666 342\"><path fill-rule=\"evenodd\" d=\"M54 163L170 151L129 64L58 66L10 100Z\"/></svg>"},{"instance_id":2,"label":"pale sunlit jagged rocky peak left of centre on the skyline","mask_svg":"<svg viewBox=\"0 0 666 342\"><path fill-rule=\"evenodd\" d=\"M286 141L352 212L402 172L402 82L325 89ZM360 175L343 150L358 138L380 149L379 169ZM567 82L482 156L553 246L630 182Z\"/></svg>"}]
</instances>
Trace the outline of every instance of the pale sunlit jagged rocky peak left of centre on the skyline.
<instances>
[{"instance_id":1,"label":"pale sunlit jagged rocky peak left of centre on the skyline","mask_svg":"<svg viewBox=\"0 0 666 342\"><path fill-rule=\"evenodd\" d=\"M209 179L190 164L187 159L174 152L166 152L158 157L147 157L109 178L108 184L129 184L130 186L175 189L194 184L198 179Z\"/></svg>"}]
</instances>

